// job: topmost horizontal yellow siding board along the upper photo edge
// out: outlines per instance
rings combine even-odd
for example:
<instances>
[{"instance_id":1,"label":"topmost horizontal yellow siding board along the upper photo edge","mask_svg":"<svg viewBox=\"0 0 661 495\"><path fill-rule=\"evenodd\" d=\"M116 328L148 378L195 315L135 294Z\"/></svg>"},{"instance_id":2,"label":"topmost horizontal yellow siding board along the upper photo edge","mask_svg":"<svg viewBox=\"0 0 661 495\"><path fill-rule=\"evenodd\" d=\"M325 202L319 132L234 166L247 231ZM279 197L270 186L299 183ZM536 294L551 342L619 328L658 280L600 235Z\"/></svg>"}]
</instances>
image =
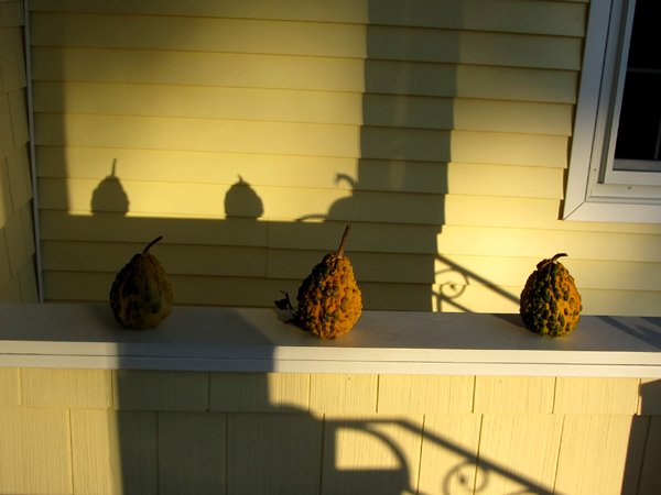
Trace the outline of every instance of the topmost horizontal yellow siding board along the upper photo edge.
<instances>
[{"instance_id":1,"label":"topmost horizontal yellow siding board along the upper photo edge","mask_svg":"<svg viewBox=\"0 0 661 495\"><path fill-rule=\"evenodd\" d=\"M407 6L397 0L381 2L370 8L367 0L342 0L328 4L323 0L286 0L275 8L268 0L241 3L218 3L213 0L184 4L152 1L133 6L118 6L112 1L94 3L80 0L57 2L37 0L34 11L132 13L163 15L206 15L240 19L277 19L321 22L346 22L384 25L416 25L425 28L463 28L522 33L582 35L586 7L578 2L538 2L505 0L497 4L489 0L464 0L462 3L420 2ZM503 15L516 11L518 15Z\"/></svg>"}]
</instances>

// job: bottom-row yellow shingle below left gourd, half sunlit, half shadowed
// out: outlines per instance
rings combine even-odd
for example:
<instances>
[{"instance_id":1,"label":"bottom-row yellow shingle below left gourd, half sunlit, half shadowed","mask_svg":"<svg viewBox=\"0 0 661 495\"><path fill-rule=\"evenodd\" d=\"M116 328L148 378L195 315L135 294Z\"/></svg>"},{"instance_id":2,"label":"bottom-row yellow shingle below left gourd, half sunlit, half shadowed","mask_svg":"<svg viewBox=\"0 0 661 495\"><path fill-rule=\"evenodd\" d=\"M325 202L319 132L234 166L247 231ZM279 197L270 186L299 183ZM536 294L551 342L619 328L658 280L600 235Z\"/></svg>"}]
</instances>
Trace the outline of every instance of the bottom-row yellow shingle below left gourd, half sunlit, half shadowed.
<instances>
[{"instance_id":1,"label":"bottom-row yellow shingle below left gourd, half sunlit, half shadowed","mask_svg":"<svg viewBox=\"0 0 661 495\"><path fill-rule=\"evenodd\" d=\"M72 410L74 493L156 494L154 413Z\"/></svg>"}]
</instances>

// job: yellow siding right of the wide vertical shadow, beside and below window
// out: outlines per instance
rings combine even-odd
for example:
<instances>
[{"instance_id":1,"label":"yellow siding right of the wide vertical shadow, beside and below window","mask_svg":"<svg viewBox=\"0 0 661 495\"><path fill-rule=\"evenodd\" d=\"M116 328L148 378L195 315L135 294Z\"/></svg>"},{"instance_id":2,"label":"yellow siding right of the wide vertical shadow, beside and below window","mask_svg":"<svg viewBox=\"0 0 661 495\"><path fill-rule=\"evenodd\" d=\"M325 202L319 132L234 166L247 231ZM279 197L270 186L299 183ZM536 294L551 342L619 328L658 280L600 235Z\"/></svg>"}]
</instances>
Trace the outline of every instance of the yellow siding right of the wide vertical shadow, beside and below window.
<instances>
[{"instance_id":1,"label":"yellow siding right of the wide vertical shadow, beside and below window","mask_svg":"<svg viewBox=\"0 0 661 495\"><path fill-rule=\"evenodd\" d=\"M658 315L658 224L559 220L589 2L459 3L488 32L462 33L435 306L517 311L537 263L566 252L585 312Z\"/></svg>"}]
</instances>

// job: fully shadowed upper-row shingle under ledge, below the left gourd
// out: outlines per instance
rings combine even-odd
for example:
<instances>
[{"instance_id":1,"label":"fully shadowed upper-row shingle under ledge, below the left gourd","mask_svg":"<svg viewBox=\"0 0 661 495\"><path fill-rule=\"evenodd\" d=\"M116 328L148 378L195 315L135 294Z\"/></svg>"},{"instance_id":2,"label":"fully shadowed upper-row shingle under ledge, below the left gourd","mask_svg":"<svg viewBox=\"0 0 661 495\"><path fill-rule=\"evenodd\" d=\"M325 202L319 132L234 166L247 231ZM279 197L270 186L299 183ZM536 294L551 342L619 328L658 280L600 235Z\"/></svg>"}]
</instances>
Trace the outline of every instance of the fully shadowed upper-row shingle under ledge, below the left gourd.
<instances>
[{"instance_id":1,"label":"fully shadowed upper-row shingle under ledge, below the left gourd","mask_svg":"<svg viewBox=\"0 0 661 495\"><path fill-rule=\"evenodd\" d=\"M209 375L201 372L112 372L115 407L120 410L208 410Z\"/></svg>"}]
</instances>

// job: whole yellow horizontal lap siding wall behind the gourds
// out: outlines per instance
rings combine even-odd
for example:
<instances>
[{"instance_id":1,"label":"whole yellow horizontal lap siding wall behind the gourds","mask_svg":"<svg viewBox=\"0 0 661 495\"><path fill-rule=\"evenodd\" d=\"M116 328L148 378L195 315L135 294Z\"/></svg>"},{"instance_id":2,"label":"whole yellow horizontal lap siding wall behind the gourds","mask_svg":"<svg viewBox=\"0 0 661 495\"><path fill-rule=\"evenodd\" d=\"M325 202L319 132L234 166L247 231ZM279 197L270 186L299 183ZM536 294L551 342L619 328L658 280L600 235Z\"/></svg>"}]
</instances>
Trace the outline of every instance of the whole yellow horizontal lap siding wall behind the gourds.
<instances>
[{"instance_id":1,"label":"whole yellow horizontal lap siding wall behind the gourds","mask_svg":"<svg viewBox=\"0 0 661 495\"><path fill-rule=\"evenodd\" d=\"M587 0L31 2L47 300L156 235L180 304L269 306L354 224L368 309L658 315L661 229L559 220Z\"/></svg>"}]
</instances>

